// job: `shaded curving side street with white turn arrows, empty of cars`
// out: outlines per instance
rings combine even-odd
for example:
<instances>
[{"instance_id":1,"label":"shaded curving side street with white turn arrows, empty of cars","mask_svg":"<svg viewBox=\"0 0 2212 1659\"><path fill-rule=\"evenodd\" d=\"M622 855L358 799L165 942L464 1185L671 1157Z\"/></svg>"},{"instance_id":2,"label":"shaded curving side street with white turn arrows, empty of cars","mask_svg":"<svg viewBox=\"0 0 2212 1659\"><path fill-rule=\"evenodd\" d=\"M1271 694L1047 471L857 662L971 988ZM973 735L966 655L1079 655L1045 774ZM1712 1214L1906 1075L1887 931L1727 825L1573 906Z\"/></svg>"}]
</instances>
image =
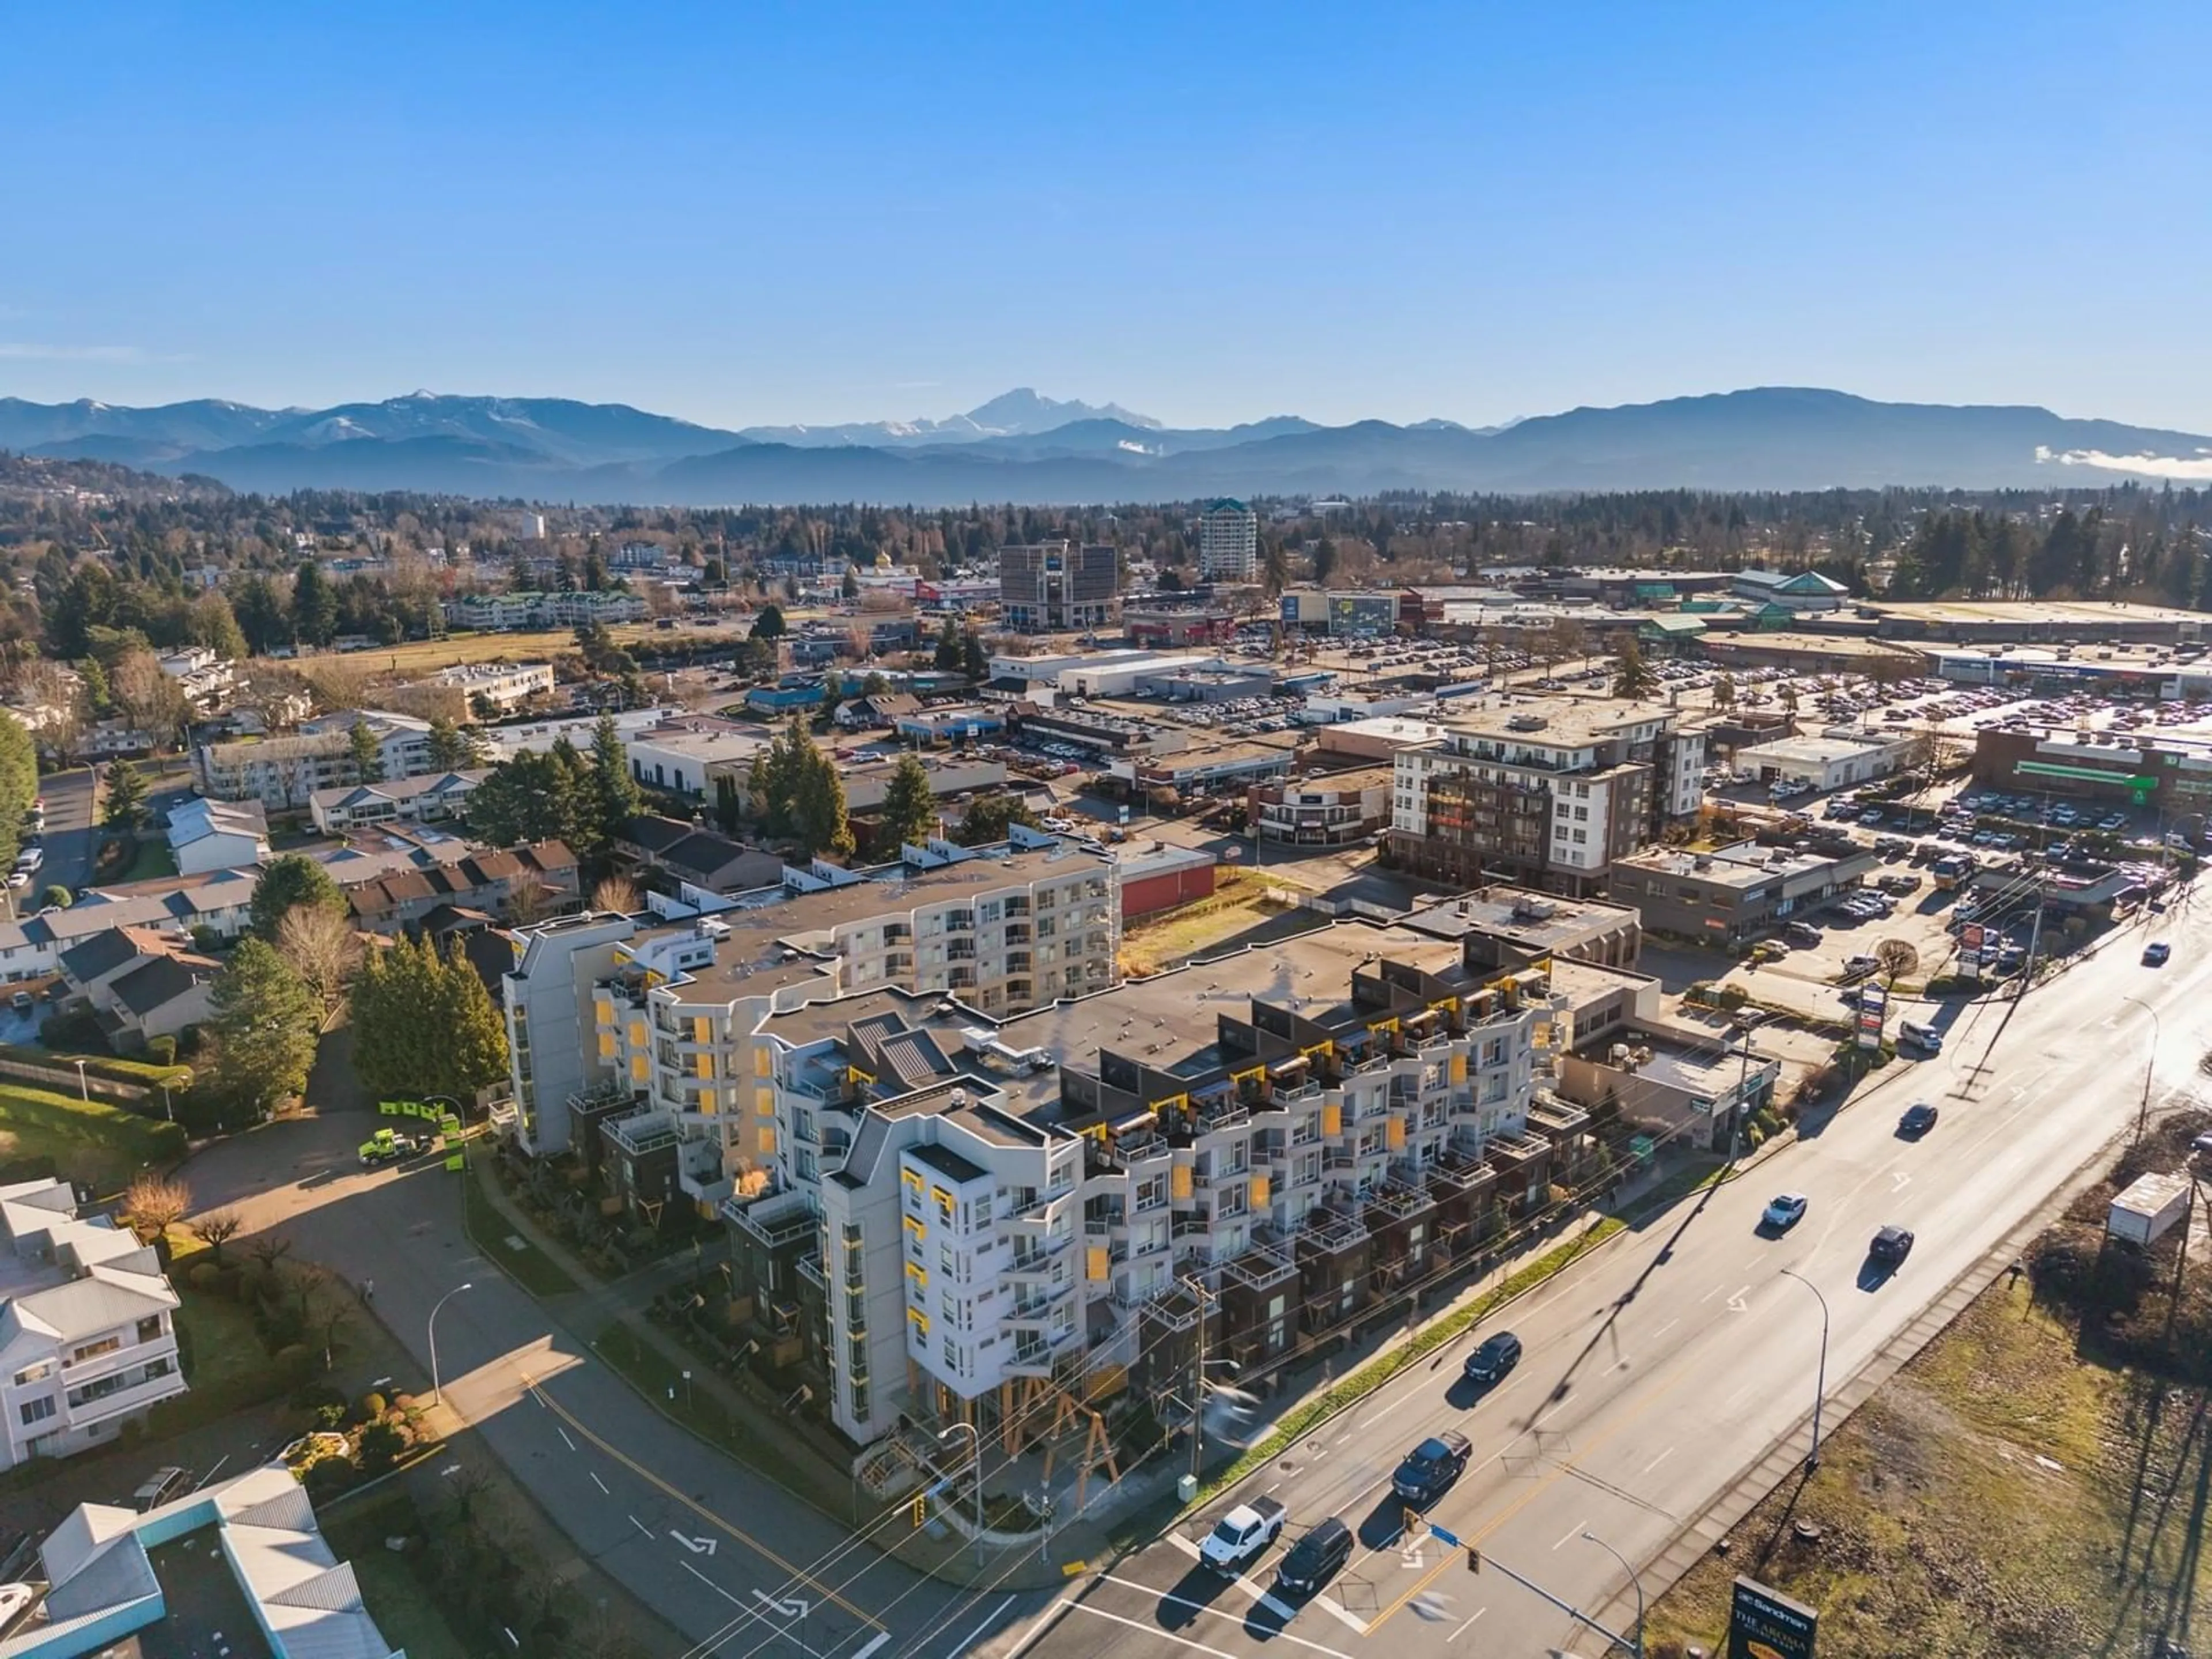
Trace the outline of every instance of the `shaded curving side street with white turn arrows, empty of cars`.
<instances>
[{"instance_id":1,"label":"shaded curving side street with white turn arrows, empty of cars","mask_svg":"<svg viewBox=\"0 0 2212 1659\"><path fill-rule=\"evenodd\" d=\"M374 1124L363 1113L270 1124L192 1159L186 1179L199 1208L234 1206L248 1232L279 1230L296 1254L374 1281L376 1316L425 1378L442 1301L445 1400L584 1555L697 1644L688 1655L951 1659L1011 1615L1013 1597L971 1597L845 1551L845 1526L653 1411L580 1340L595 1318L571 1334L473 1252L460 1175L440 1157L358 1166Z\"/></svg>"}]
</instances>

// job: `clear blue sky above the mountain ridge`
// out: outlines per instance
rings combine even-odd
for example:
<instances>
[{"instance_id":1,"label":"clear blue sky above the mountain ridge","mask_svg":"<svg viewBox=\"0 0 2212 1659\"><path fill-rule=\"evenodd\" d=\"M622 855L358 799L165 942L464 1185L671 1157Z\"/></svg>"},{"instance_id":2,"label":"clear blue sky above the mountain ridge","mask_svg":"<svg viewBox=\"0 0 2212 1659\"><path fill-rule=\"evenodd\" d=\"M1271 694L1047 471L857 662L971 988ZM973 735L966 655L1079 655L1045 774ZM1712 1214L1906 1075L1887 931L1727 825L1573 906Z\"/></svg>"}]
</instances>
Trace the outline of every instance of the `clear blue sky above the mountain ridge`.
<instances>
[{"instance_id":1,"label":"clear blue sky above the mountain ridge","mask_svg":"<svg viewBox=\"0 0 2212 1659\"><path fill-rule=\"evenodd\" d=\"M0 394L2212 431L2212 4L18 4Z\"/></svg>"}]
</instances>

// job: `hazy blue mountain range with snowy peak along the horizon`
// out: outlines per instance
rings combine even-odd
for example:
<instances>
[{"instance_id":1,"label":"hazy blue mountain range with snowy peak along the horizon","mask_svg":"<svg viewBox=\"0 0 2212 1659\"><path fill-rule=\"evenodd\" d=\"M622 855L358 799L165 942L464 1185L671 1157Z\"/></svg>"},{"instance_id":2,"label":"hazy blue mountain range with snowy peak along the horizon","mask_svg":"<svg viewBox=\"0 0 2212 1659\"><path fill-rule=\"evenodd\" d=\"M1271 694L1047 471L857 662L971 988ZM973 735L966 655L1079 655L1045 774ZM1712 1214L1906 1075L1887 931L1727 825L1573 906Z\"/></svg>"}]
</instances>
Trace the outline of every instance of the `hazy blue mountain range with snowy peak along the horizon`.
<instances>
[{"instance_id":1,"label":"hazy blue mountain range with snowy peak along the horizon","mask_svg":"<svg viewBox=\"0 0 2212 1659\"><path fill-rule=\"evenodd\" d=\"M1321 427L1298 416L1183 431L1026 387L945 420L745 431L619 403L429 392L334 409L0 398L0 449L206 473L270 493L416 489L690 507L2212 482L2212 438L2194 434L1798 387L1571 409L1480 431L1449 420Z\"/></svg>"}]
</instances>

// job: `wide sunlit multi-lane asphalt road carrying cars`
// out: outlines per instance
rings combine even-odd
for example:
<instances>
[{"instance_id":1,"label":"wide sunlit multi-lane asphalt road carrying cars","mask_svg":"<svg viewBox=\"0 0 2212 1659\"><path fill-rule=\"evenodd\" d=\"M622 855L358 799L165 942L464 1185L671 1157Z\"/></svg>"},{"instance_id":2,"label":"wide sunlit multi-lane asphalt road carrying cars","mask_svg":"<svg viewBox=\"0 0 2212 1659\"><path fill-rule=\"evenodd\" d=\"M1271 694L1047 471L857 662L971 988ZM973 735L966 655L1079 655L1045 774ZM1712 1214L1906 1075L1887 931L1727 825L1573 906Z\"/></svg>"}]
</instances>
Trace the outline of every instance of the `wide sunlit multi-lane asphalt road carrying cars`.
<instances>
[{"instance_id":1,"label":"wide sunlit multi-lane asphalt road carrying cars","mask_svg":"<svg viewBox=\"0 0 2212 1659\"><path fill-rule=\"evenodd\" d=\"M1498 1564L1590 1613L1632 1606L1617 1601L1628 1575L1584 1533L1650 1562L1770 1447L1809 1449L1820 1298L1836 1394L2132 1126L2152 1044L2159 1088L2190 1079L2212 1046L2212 916L2177 909L2150 922L2154 933L2115 936L2026 1002L1955 1009L1940 1057L1891 1066L1871 1097L1816 1137L1615 1239L1506 1310L1489 1329L1511 1327L1526 1354L1504 1383L1484 1394L1460 1380L1486 1329L1462 1338L1436 1369L1416 1367L1221 1498L1190 1535L1166 1537L1071 1595L1029 1652L1606 1652L1604 1637L1575 1628ZM2163 969L2139 962L2152 936L2174 945ZM1913 1102L1942 1113L1922 1139L1898 1133ZM1794 1230L1765 1237L1761 1210L1783 1190L1805 1192L1809 1210ZM1867 1261L1867 1241L1889 1223L1916 1234L1893 1272ZM1480 1544L1491 1564L1482 1575L1427 1526L1409 1533L1389 1491L1398 1458L1442 1427L1462 1429L1475 1449L1427 1526ZM1285 1544L1325 1515L1356 1528L1360 1548L1316 1599L1272 1595L1279 1548L1237 1582L1197 1566L1194 1537L1254 1491L1290 1506ZM1613 1628L1626 1635L1630 1621L1615 1615Z\"/></svg>"}]
</instances>

